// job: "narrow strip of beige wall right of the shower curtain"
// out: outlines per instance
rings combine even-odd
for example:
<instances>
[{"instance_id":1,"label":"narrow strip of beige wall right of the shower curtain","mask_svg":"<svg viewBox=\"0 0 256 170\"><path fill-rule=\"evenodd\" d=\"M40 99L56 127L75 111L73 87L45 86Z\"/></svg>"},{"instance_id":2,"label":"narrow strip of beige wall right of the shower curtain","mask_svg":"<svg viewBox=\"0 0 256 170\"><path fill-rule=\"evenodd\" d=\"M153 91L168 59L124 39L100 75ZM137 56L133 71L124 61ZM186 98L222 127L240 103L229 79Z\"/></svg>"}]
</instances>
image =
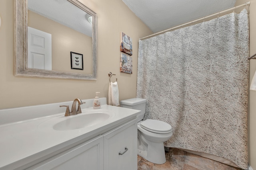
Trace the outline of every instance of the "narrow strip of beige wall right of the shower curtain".
<instances>
[{"instance_id":1,"label":"narrow strip of beige wall right of the shower curtain","mask_svg":"<svg viewBox=\"0 0 256 170\"><path fill-rule=\"evenodd\" d=\"M237 0L235 6L248 2ZM250 0L250 56L256 53L256 0ZM248 8L248 7L246 7ZM250 83L256 70L256 60L250 60ZM249 114L248 114L248 149L249 164L256 170L256 91L249 90Z\"/></svg>"}]
</instances>

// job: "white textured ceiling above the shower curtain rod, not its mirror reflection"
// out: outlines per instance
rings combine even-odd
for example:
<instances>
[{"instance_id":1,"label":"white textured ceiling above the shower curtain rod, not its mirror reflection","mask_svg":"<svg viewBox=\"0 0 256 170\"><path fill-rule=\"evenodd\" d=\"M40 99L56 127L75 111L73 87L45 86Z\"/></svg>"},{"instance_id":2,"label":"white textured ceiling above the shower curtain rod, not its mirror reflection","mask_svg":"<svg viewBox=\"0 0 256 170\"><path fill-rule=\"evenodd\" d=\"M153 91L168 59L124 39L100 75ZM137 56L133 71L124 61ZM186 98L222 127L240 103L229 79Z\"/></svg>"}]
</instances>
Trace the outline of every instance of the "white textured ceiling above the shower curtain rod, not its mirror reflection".
<instances>
[{"instance_id":1,"label":"white textured ceiling above the shower curtain rod, not its mirror reflection","mask_svg":"<svg viewBox=\"0 0 256 170\"><path fill-rule=\"evenodd\" d=\"M122 0L154 33L235 5L236 0Z\"/></svg>"}]
</instances>

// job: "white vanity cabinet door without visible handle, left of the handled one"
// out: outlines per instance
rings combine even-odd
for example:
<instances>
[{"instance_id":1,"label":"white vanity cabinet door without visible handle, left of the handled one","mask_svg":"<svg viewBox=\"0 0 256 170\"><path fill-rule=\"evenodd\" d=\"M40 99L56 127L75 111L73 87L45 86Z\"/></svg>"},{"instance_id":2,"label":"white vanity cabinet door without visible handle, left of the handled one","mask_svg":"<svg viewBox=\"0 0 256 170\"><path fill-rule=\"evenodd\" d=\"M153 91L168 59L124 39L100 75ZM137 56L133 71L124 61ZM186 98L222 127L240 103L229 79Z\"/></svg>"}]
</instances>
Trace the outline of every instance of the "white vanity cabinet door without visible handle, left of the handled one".
<instances>
[{"instance_id":1,"label":"white vanity cabinet door without visible handle, left of the handled one","mask_svg":"<svg viewBox=\"0 0 256 170\"><path fill-rule=\"evenodd\" d=\"M28 170L103 170L103 151L103 136L99 136Z\"/></svg>"}]
</instances>

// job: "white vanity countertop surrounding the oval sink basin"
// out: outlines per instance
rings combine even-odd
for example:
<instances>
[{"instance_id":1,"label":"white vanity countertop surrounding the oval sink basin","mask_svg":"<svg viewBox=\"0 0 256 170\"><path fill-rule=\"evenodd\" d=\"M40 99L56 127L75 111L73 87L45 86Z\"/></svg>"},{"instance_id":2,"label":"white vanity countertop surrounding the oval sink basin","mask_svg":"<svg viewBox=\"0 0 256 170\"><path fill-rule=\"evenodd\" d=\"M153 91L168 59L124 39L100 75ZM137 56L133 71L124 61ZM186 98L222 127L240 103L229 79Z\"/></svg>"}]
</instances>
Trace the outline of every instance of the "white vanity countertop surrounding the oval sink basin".
<instances>
[{"instance_id":1,"label":"white vanity countertop surrounding the oval sink basin","mask_svg":"<svg viewBox=\"0 0 256 170\"><path fill-rule=\"evenodd\" d=\"M106 98L101 98L101 100L106 100ZM83 101L90 103L89 100ZM56 131L52 126L45 123L54 117L64 117L65 112L58 114L52 113L52 115L48 114L44 117L36 117L33 119L0 125L0 170L18 168L20 166L24 166L28 162L47 156L52 152L55 152L55 154L62 152L64 151L62 148L66 147L66 149L69 149L79 143L101 135L102 133L113 129L115 126L120 125L123 121L136 117L140 112L138 110L127 109L124 107L109 106L106 105L106 102L101 103L104 105L101 106L100 109L92 109L89 105L85 106L86 108L83 109L81 105L82 113L79 115L86 114L86 111L89 110L100 112L109 111L114 113L114 115L98 125L82 129ZM56 104L56 106L57 105L62 104L59 103ZM40 108L42 106L43 105L41 105ZM47 107L47 105L45 105L45 107ZM22 109L25 109L25 107L22 107ZM15 109L15 111L17 110L18 109ZM63 108L62 110L65 111ZM1 115L1 113L6 113L6 111L7 110L5 109L0 110L0 119L3 118L4 115ZM45 158L42 158L42 160L43 159Z\"/></svg>"}]
</instances>

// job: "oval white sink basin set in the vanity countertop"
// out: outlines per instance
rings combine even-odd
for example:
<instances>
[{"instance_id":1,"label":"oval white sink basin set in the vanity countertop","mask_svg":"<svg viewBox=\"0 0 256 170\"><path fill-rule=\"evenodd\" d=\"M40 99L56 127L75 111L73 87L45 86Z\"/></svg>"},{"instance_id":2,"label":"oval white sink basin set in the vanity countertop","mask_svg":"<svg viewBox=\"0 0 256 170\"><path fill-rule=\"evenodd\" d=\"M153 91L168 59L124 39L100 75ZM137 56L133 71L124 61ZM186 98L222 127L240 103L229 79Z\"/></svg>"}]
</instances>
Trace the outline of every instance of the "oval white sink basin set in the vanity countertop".
<instances>
[{"instance_id":1,"label":"oval white sink basin set in the vanity countertop","mask_svg":"<svg viewBox=\"0 0 256 170\"><path fill-rule=\"evenodd\" d=\"M85 115L74 115L67 117L66 120L60 121L53 126L54 130L67 131L81 129L84 127L102 123L110 117L107 113L89 113Z\"/></svg>"}]
</instances>

